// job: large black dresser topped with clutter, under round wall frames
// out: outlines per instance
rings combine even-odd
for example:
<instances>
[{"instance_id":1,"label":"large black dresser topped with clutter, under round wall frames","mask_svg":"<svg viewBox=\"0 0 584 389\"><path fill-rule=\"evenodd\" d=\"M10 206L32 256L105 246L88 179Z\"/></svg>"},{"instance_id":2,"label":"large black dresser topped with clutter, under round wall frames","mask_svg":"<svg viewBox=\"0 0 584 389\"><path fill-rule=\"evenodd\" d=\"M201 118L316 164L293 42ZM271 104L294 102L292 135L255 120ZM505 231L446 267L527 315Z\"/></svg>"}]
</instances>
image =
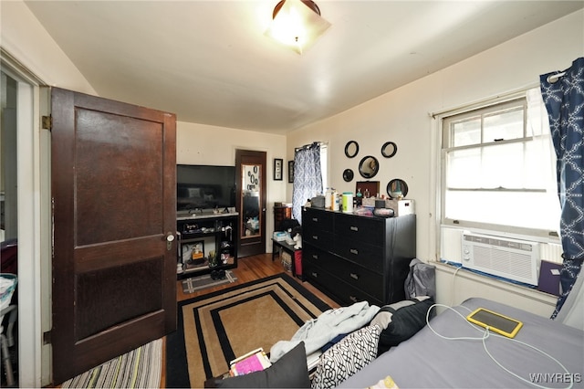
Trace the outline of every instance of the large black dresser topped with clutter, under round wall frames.
<instances>
[{"instance_id":1,"label":"large black dresser topped with clutter, under round wall frames","mask_svg":"<svg viewBox=\"0 0 584 389\"><path fill-rule=\"evenodd\" d=\"M304 279L342 305L404 300L415 256L415 215L382 218L302 209Z\"/></svg>"}]
</instances>

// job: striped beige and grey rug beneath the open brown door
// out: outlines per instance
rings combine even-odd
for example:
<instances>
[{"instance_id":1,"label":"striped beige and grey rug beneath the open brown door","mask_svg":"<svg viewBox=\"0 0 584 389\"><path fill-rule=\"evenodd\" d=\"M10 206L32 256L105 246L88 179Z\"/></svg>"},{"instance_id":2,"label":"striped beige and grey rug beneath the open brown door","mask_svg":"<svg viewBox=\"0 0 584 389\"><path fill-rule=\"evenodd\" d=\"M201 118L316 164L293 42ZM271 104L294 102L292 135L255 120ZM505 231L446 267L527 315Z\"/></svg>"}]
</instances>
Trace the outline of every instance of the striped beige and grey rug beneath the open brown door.
<instances>
[{"instance_id":1,"label":"striped beige and grey rug beneath the open brown door","mask_svg":"<svg viewBox=\"0 0 584 389\"><path fill-rule=\"evenodd\" d=\"M157 388L161 385L162 339L100 364L61 385L64 388Z\"/></svg>"}]
</instances>

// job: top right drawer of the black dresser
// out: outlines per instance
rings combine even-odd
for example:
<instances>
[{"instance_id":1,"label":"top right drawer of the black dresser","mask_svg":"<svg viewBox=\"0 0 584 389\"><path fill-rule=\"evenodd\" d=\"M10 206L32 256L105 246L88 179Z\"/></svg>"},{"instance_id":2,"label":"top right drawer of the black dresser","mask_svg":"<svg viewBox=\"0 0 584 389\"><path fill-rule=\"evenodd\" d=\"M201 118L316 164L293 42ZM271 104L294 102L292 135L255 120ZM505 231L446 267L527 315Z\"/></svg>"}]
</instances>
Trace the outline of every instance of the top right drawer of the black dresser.
<instances>
[{"instance_id":1,"label":"top right drawer of the black dresser","mask_svg":"<svg viewBox=\"0 0 584 389\"><path fill-rule=\"evenodd\" d=\"M381 246L385 241L385 220L375 217L335 214L335 234L370 245Z\"/></svg>"}]
</instances>

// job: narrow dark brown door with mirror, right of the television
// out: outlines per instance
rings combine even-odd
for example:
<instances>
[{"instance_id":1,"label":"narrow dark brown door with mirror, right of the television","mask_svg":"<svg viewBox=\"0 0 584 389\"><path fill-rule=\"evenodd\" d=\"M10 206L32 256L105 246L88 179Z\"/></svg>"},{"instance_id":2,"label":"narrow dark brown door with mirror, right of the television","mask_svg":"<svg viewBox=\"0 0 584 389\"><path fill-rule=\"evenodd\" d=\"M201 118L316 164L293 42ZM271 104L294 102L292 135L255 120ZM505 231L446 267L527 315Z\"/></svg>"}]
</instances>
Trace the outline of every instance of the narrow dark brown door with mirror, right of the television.
<instances>
[{"instance_id":1,"label":"narrow dark brown door with mirror, right of the television","mask_svg":"<svg viewBox=\"0 0 584 389\"><path fill-rule=\"evenodd\" d=\"M266 252L266 152L235 151L237 257Z\"/></svg>"}]
</instances>

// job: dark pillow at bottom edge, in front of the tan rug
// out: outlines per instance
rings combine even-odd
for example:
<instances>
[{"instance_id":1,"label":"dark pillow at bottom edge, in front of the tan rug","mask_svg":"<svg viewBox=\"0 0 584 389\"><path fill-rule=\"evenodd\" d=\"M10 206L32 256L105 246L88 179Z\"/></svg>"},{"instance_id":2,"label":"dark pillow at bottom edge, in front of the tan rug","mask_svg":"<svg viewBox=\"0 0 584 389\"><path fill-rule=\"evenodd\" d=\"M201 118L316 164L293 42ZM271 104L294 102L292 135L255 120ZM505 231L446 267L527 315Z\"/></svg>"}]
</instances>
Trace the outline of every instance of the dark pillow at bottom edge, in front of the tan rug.
<instances>
[{"instance_id":1,"label":"dark pillow at bottom edge, in front of the tan rug","mask_svg":"<svg viewBox=\"0 0 584 389\"><path fill-rule=\"evenodd\" d=\"M304 342L261 372L228 378L210 378L206 388L309 388L307 352Z\"/></svg>"}]
</instances>

